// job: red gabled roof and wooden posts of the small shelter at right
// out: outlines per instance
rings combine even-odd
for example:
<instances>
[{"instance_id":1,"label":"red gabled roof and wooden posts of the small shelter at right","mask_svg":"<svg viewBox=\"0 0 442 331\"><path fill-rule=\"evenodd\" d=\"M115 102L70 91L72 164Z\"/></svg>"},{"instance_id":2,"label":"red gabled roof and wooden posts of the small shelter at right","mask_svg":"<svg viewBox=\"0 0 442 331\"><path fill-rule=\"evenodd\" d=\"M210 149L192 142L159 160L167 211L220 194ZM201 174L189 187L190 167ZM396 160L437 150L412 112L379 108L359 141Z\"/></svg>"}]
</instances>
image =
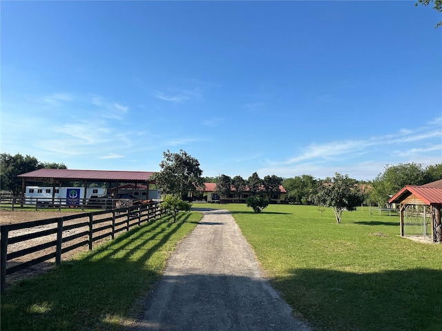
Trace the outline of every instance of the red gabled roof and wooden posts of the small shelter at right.
<instances>
[{"instance_id":1,"label":"red gabled roof and wooden posts of the small shelter at right","mask_svg":"<svg viewBox=\"0 0 442 331\"><path fill-rule=\"evenodd\" d=\"M388 203L399 204L399 216L401 218L401 236L405 237L405 208L410 205L430 206L431 237L434 243L442 243L442 180L426 185L406 185L397 192ZM424 219L426 208L423 208Z\"/></svg>"}]
</instances>

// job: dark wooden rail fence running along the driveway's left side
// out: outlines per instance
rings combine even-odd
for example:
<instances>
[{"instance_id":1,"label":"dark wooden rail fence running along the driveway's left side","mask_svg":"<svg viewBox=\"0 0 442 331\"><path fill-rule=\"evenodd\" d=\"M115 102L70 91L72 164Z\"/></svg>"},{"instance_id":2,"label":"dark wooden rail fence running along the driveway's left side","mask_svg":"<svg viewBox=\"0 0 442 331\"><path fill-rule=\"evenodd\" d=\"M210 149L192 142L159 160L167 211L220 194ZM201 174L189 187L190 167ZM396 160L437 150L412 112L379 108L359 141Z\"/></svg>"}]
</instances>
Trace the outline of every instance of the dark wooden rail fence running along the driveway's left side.
<instances>
[{"instance_id":1,"label":"dark wooden rail fence running along the driveway's left side","mask_svg":"<svg viewBox=\"0 0 442 331\"><path fill-rule=\"evenodd\" d=\"M161 217L162 210L157 203L148 205L133 205L113 210L99 212L84 212L81 214L29 221L25 223L0 226L0 273L1 292L6 288L6 276L29 268L32 265L55 258L55 264L61 263L61 255L88 245L92 250L93 243L106 237L115 238L115 234L128 231L135 225L141 225L150 219ZM41 230L44 228L44 230ZM25 234L14 235L18 230L26 230ZM23 231L21 231L23 232ZM73 234L70 234L73 232ZM32 239L40 243L32 245ZM34 240L36 241L36 240ZM41 243L42 242L42 243ZM15 244L26 243L14 248ZM15 245L15 246L14 246ZM26 259L26 256L38 252L39 257ZM25 258L23 258L25 257ZM14 262L14 259L26 261ZM8 263L10 261L10 263Z\"/></svg>"}]
</instances>

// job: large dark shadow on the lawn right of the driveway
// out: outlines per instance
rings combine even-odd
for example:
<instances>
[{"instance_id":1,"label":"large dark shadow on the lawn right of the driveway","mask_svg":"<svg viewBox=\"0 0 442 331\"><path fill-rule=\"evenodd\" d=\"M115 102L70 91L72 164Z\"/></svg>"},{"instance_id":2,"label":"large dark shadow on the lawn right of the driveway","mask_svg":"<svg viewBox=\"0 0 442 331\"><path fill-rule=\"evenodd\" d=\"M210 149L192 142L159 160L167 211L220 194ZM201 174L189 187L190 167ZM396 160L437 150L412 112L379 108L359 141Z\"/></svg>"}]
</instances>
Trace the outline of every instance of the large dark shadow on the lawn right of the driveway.
<instances>
[{"instance_id":1,"label":"large dark shadow on the lawn right of the driveway","mask_svg":"<svg viewBox=\"0 0 442 331\"><path fill-rule=\"evenodd\" d=\"M272 285L319 330L436 330L442 270L352 273L295 269Z\"/></svg>"}]
</instances>

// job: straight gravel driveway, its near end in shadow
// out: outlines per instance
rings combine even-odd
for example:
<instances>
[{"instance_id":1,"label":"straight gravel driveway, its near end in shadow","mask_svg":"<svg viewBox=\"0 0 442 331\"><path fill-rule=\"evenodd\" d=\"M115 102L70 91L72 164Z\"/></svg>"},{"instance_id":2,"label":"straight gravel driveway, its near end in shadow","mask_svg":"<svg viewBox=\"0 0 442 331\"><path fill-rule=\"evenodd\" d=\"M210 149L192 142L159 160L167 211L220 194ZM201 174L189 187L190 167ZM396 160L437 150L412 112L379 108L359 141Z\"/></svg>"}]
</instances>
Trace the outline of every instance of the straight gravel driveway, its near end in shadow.
<instances>
[{"instance_id":1,"label":"straight gravel driveway, its near end in shadow","mask_svg":"<svg viewBox=\"0 0 442 331\"><path fill-rule=\"evenodd\" d=\"M204 217L169 260L135 330L299 330L309 327L265 281L227 210Z\"/></svg>"}]
</instances>

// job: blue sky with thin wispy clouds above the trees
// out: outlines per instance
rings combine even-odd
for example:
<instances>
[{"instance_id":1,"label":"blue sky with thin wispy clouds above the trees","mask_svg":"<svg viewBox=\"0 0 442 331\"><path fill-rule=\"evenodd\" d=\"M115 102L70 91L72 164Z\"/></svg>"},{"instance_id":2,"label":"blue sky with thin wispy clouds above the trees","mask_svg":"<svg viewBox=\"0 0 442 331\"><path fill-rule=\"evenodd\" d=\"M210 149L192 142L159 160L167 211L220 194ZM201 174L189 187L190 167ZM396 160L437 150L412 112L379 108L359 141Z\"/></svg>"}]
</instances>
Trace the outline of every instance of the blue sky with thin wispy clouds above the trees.
<instances>
[{"instance_id":1,"label":"blue sky with thin wispy clouds above the trees","mask_svg":"<svg viewBox=\"0 0 442 331\"><path fill-rule=\"evenodd\" d=\"M442 162L442 20L414 1L1 1L1 152L203 176Z\"/></svg>"}]
</instances>

